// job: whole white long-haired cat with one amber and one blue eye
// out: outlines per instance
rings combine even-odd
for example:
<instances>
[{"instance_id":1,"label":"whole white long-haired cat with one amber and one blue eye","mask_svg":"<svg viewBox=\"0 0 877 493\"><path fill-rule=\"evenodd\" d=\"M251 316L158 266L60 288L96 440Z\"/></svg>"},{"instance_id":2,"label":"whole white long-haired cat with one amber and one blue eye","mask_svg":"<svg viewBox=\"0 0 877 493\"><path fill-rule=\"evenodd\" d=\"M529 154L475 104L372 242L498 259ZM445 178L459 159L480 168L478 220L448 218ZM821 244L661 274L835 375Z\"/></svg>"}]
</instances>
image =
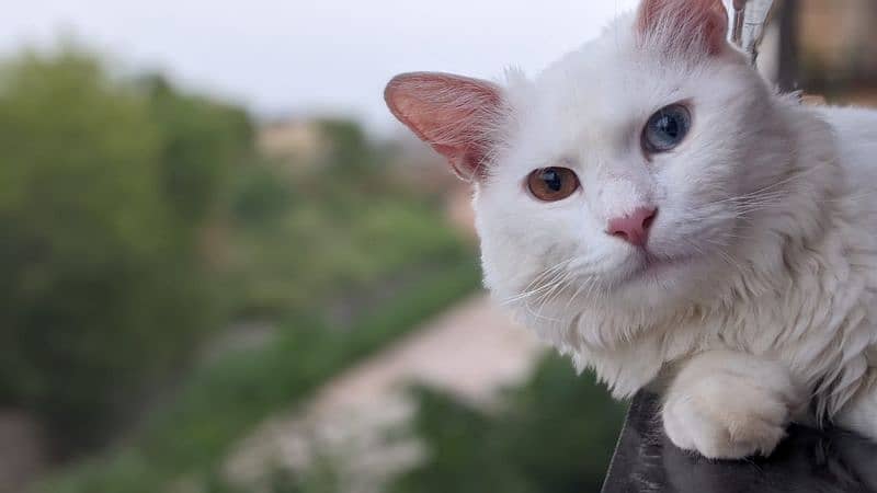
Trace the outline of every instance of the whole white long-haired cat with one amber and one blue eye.
<instances>
[{"instance_id":1,"label":"whole white long-haired cat with one amber and one blue eye","mask_svg":"<svg viewBox=\"0 0 877 493\"><path fill-rule=\"evenodd\" d=\"M475 185L494 297L614 395L660 391L675 445L877 438L877 113L776 94L726 36L721 0L645 0L534 80L386 100Z\"/></svg>"}]
</instances>

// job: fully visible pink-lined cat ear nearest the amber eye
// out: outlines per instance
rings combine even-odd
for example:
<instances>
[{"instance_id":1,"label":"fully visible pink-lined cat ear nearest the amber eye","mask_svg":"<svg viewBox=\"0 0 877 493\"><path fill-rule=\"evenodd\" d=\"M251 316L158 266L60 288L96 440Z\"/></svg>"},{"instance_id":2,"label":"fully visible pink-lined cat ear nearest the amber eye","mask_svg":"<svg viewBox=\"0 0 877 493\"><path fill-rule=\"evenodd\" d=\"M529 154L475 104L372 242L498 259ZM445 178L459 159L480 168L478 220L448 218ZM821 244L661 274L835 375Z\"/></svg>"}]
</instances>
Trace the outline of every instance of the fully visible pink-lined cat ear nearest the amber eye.
<instances>
[{"instance_id":1,"label":"fully visible pink-lined cat ear nearest the amber eye","mask_svg":"<svg viewBox=\"0 0 877 493\"><path fill-rule=\"evenodd\" d=\"M485 176L502 117L499 87L448 73L402 73L387 84L384 99L392 114L444 156L459 177Z\"/></svg>"}]
</instances>

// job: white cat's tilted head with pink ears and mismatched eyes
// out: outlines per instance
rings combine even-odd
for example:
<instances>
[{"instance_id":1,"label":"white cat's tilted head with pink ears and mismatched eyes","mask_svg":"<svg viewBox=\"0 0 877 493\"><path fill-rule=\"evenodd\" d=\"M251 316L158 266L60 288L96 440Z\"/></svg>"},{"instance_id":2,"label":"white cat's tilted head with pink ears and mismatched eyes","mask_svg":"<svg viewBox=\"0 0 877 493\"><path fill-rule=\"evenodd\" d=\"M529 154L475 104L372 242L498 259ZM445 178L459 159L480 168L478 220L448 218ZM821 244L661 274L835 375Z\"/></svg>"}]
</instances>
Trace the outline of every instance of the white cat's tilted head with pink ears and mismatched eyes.
<instances>
[{"instance_id":1,"label":"white cat's tilted head with pink ears and mismatched eyes","mask_svg":"<svg viewBox=\"0 0 877 493\"><path fill-rule=\"evenodd\" d=\"M788 158L776 98L727 23L721 0L645 0L534 80L389 83L394 114L475 184L498 299L536 323L585 308L641 319L745 261Z\"/></svg>"}]
</instances>

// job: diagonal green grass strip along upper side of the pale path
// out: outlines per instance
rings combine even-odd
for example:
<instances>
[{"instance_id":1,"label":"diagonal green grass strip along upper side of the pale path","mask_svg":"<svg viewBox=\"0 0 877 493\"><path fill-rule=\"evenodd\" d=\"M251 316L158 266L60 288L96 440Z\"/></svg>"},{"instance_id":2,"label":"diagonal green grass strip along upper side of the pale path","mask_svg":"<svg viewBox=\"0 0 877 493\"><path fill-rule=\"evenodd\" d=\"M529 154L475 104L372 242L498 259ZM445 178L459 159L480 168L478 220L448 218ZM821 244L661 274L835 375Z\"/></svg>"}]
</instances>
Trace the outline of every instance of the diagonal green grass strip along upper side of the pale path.
<instances>
[{"instance_id":1,"label":"diagonal green grass strip along upper side of the pale path","mask_svg":"<svg viewBox=\"0 0 877 493\"><path fill-rule=\"evenodd\" d=\"M271 412L300 402L319 383L478 284L478 270L464 262L420 279L417 289L374 307L348 331L297 317L275 343L227 355L195 371L136 445L75 468L44 491L157 493L179 478L207 474L221 466L228 447Z\"/></svg>"}]
</instances>

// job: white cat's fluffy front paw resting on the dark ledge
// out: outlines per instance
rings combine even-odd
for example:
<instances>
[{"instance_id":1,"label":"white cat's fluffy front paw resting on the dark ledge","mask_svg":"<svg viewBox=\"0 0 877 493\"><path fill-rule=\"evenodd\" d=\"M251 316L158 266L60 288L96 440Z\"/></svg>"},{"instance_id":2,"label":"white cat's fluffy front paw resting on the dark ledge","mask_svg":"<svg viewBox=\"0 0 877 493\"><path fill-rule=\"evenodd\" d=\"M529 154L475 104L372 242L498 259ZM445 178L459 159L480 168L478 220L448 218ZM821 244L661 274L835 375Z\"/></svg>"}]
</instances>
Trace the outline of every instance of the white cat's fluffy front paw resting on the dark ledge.
<instances>
[{"instance_id":1,"label":"white cat's fluffy front paw resting on the dark ledge","mask_svg":"<svg viewBox=\"0 0 877 493\"><path fill-rule=\"evenodd\" d=\"M677 447L711 459L768 455L805 401L781 363L706 352L673 377L664 394L664 431Z\"/></svg>"}]
</instances>

